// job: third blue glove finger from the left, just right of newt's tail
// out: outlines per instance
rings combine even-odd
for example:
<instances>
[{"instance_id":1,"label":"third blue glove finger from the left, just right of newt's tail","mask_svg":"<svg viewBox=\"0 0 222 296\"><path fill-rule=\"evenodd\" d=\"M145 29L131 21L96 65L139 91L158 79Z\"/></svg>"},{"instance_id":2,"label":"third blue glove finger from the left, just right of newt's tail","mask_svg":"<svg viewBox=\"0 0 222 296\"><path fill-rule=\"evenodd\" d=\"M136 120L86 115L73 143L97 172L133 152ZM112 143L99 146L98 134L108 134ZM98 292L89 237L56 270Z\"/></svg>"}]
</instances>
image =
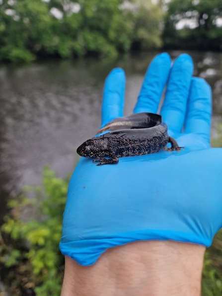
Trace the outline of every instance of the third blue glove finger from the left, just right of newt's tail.
<instances>
[{"instance_id":1,"label":"third blue glove finger from the left, just right of newt's tail","mask_svg":"<svg viewBox=\"0 0 222 296\"><path fill-rule=\"evenodd\" d=\"M193 73L193 61L187 54L180 55L174 62L167 83L165 99L160 114L162 120L173 132L181 132L190 82Z\"/></svg>"}]
</instances>

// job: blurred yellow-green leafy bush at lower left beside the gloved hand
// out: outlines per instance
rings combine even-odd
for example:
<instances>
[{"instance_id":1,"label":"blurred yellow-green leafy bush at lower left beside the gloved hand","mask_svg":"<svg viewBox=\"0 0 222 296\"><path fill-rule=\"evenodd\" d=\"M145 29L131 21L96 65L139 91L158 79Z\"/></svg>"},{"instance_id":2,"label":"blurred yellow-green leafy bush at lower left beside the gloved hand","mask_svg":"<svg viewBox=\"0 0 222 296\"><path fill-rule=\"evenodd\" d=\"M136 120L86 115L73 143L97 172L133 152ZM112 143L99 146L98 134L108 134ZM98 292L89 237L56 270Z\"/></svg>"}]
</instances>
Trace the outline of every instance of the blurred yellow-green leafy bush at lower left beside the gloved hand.
<instances>
[{"instance_id":1,"label":"blurred yellow-green leafy bush at lower left beside the gloved hand","mask_svg":"<svg viewBox=\"0 0 222 296\"><path fill-rule=\"evenodd\" d=\"M29 288L36 296L60 295L64 259L59 242L67 187L67 180L56 178L46 167L43 187L26 188L33 198L24 192L8 202L11 210L1 227L0 262L7 270L4 282L12 295L20 296Z\"/></svg>"}]
</instances>

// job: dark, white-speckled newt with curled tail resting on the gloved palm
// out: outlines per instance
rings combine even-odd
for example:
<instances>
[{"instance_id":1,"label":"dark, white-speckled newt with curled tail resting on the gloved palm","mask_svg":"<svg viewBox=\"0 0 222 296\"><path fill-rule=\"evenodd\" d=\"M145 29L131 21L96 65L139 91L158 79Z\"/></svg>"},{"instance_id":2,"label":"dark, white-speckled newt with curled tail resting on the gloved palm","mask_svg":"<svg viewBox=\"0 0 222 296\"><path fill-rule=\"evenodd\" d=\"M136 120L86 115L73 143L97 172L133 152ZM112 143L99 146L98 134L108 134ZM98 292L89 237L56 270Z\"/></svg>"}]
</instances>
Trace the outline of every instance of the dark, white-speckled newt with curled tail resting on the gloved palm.
<instances>
[{"instance_id":1,"label":"dark, white-speckled newt with curled tail resting on the gloved palm","mask_svg":"<svg viewBox=\"0 0 222 296\"><path fill-rule=\"evenodd\" d=\"M95 157L97 165L118 163L119 157L155 153L162 148L180 151L177 142L168 136L167 125L158 114L136 113L116 118L98 131L114 131L91 138L77 148L84 157ZM165 148L167 143L171 148ZM101 156L108 156L109 159Z\"/></svg>"}]
</instances>

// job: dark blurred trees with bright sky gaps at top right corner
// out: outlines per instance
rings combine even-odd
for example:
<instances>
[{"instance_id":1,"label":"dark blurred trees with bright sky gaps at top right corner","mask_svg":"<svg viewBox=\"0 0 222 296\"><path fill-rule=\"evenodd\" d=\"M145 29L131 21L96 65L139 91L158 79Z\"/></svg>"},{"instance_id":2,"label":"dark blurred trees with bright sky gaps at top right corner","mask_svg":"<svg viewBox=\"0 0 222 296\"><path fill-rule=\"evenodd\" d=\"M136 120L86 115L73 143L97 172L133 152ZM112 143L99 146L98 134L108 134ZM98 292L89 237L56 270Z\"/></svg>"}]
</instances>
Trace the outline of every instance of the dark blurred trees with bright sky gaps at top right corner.
<instances>
[{"instance_id":1,"label":"dark blurred trees with bright sky gaps at top right corner","mask_svg":"<svg viewBox=\"0 0 222 296\"><path fill-rule=\"evenodd\" d=\"M217 19L222 17L221 0L171 0L165 15L163 43L167 48L221 50L221 28ZM194 28L188 25L177 30L181 20L192 20Z\"/></svg>"}]
</instances>

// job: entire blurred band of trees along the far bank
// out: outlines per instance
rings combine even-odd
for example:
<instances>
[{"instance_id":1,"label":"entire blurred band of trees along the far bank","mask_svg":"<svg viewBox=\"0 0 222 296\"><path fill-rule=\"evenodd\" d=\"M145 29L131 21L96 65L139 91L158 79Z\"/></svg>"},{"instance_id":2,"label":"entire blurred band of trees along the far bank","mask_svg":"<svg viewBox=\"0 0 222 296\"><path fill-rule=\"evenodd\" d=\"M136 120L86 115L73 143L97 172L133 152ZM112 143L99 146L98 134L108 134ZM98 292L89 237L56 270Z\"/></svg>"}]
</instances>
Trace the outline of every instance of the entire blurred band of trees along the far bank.
<instances>
[{"instance_id":1,"label":"entire blurred band of trees along the far bank","mask_svg":"<svg viewBox=\"0 0 222 296\"><path fill-rule=\"evenodd\" d=\"M0 60L222 50L221 0L0 0Z\"/></svg>"}]
</instances>

